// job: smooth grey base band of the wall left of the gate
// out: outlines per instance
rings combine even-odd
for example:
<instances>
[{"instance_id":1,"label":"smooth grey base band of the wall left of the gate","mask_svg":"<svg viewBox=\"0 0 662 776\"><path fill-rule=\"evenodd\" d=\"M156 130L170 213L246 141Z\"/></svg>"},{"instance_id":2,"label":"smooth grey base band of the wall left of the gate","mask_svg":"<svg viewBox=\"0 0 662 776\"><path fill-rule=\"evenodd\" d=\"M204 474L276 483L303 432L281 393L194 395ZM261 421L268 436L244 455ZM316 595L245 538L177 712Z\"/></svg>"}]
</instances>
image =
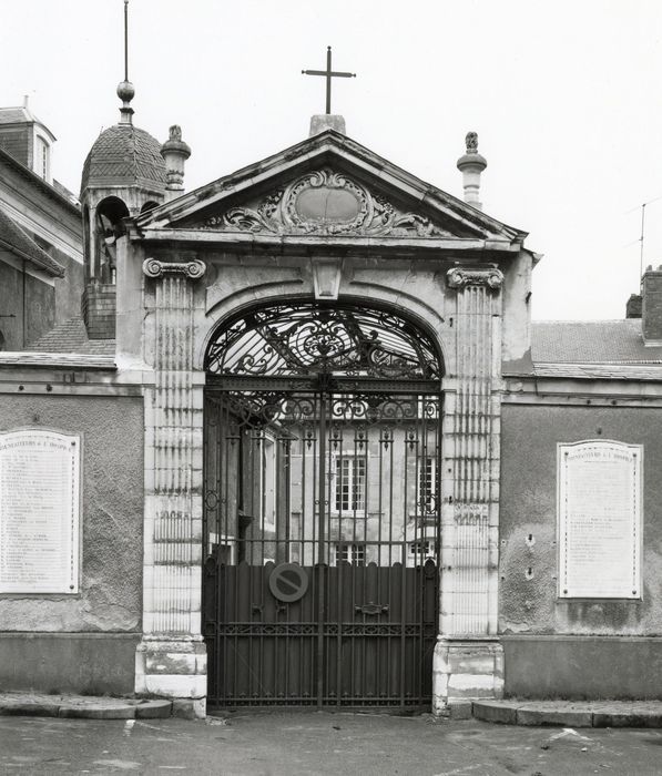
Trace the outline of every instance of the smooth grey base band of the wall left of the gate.
<instances>
[{"instance_id":1,"label":"smooth grey base band of the wall left of the gate","mask_svg":"<svg viewBox=\"0 0 662 776\"><path fill-rule=\"evenodd\" d=\"M0 688L133 692L140 633L0 633Z\"/></svg>"}]
</instances>

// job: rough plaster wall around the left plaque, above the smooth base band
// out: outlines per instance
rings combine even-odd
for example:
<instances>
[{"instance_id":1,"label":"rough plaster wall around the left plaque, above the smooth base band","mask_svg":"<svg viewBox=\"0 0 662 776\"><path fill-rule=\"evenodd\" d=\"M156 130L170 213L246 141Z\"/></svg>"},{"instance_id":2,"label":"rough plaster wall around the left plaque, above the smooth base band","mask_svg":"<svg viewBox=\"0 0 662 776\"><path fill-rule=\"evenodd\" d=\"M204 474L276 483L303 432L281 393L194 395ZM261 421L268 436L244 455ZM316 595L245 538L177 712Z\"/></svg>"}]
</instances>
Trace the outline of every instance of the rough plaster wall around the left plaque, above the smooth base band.
<instances>
[{"instance_id":1,"label":"rough plaster wall around the left plaque, above the smooth base band","mask_svg":"<svg viewBox=\"0 0 662 776\"><path fill-rule=\"evenodd\" d=\"M142 399L3 395L0 430L21 427L43 427L82 437L81 589L77 595L0 594L0 630L140 631Z\"/></svg>"}]
</instances>

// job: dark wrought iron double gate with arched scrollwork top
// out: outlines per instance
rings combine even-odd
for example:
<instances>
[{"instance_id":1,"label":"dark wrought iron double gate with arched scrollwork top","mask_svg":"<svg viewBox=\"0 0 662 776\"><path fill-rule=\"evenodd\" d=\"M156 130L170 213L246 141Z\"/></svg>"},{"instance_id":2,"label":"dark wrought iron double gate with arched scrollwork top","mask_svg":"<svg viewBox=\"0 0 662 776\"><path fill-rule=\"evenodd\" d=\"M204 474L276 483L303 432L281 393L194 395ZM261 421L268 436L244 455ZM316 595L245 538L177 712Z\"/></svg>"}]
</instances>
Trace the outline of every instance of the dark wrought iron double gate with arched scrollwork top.
<instances>
[{"instance_id":1,"label":"dark wrought iron double gate with arched scrollwork top","mask_svg":"<svg viewBox=\"0 0 662 776\"><path fill-rule=\"evenodd\" d=\"M390 314L298 305L227 327L207 368L210 705L429 704L441 455L431 344Z\"/></svg>"}]
</instances>

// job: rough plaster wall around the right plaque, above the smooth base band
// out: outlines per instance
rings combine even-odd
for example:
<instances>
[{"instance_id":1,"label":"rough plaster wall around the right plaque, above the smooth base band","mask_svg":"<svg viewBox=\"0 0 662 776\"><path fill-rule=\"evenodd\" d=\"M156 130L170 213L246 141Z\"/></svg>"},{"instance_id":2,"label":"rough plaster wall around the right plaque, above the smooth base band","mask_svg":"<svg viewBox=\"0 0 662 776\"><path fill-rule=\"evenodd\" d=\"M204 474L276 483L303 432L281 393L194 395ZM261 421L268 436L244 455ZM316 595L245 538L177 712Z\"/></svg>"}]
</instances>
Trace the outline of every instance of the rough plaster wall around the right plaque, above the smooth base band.
<instances>
[{"instance_id":1,"label":"rough plaster wall around the right plaque, above the smooth base band","mask_svg":"<svg viewBox=\"0 0 662 776\"><path fill-rule=\"evenodd\" d=\"M557 599L557 442L600 438L643 445L640 601ZM662 634L661 470L659 409L503 407L500 633Z\"/></svg>"}]
</instances>

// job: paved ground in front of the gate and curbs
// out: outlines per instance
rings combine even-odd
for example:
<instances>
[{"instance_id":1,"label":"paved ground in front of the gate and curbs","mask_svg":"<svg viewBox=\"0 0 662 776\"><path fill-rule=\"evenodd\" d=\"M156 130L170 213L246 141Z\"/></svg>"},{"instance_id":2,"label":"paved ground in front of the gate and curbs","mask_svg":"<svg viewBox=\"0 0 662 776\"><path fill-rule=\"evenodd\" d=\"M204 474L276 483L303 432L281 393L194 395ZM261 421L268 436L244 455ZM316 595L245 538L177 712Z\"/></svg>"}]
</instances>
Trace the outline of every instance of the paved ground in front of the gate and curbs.
<instances>
[{"instance_id":1,"label":"paved ground in front of the gate and curbs","mask_svg":"<svg viewBox=\"0 0 662 776\"><path fill-rule=\"evenodd\" d=\"M0 717L0 774L662 774L662 731L329 713L228 719Z\"/></svg>"}]
</instances>

